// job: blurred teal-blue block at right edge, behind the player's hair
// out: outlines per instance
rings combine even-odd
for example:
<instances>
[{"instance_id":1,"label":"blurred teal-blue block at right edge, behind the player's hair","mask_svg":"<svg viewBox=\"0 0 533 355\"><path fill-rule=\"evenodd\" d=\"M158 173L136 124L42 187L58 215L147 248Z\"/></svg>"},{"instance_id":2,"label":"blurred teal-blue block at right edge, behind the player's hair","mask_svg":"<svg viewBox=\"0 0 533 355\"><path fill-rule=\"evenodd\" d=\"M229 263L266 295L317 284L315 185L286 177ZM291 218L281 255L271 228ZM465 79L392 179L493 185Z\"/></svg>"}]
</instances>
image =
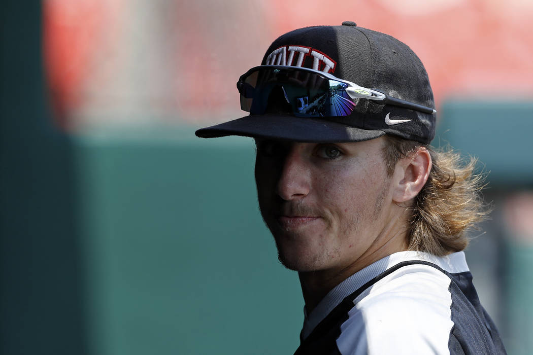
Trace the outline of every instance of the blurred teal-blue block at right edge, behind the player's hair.
<instances>
[{"instance_id":1,"label":"blurred teal-blue block at right edge, behind the player's hair","mask_svg":"<svg viewBox=\"0 0 533 355\"><path fill-rule=\"evenodd\" d=\"M477 156L491 186L533 187L533 101L450 97L438 115L433 145Z\"/></svg>"}]
</instances>

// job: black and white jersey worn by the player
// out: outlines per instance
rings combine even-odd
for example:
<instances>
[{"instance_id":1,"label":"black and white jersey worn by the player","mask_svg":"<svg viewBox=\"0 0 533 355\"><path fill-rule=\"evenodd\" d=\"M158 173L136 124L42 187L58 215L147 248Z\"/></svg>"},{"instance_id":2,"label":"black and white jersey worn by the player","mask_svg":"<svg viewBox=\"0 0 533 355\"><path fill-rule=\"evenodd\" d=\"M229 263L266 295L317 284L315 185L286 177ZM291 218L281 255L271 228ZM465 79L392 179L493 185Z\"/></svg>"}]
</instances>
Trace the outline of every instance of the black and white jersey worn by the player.
<instances>
[{"instance_id":1,"label":"black and white jersey worn by the player","mask_svg":"<svg viewBox=\"0 0 533 355\"><path fill-rule=\"evenodd\" d=\"M398 252L305 314L296 354L505 354L463 252Z\"/></svg>"}]
</instances>

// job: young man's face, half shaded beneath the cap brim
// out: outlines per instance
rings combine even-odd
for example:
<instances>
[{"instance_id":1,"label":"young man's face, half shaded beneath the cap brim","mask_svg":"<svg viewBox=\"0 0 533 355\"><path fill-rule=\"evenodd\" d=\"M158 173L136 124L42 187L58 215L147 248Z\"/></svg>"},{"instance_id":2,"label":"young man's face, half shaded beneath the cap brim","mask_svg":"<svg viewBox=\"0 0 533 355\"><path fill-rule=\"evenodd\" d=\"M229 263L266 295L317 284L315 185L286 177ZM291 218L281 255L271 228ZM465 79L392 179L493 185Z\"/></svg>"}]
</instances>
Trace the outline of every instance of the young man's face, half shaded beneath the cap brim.
<instances>
[{"instance_id":1,"label":"young man's face, half shaded beneath the cap brim","mask_svg":"<svg viewBox=\"0 0 533 355\"><path fill-rule=\"evenodd\" d=\"M286 267L344 270L373 252L391 213L383 137L256 144L259 206Z\"/></svg>"}]
</instances>

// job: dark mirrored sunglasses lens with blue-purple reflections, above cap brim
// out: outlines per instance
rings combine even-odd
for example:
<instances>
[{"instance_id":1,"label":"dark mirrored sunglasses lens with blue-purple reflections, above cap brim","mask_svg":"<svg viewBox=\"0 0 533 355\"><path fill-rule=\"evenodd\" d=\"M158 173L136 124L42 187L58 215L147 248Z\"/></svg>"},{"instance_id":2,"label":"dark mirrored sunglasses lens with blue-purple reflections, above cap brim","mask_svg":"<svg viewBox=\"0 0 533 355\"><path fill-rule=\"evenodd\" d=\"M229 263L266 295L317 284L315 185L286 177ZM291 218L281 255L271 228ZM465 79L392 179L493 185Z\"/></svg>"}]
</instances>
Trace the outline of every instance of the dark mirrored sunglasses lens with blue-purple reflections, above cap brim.
<instances>
[{"instance_id":1,"label":"dark mirrored sunglasses lens with blue-purple reflections, above cap brim","mask_svg":"<svg viewBox=\"0 0 533 355\"><path fill-rule=\"evenodd\" d=\"M333 117L352 113L356 104L344 82L293 68L259 68L241 79L240 106L251 114Z\"/></svg>"}]
</instances>

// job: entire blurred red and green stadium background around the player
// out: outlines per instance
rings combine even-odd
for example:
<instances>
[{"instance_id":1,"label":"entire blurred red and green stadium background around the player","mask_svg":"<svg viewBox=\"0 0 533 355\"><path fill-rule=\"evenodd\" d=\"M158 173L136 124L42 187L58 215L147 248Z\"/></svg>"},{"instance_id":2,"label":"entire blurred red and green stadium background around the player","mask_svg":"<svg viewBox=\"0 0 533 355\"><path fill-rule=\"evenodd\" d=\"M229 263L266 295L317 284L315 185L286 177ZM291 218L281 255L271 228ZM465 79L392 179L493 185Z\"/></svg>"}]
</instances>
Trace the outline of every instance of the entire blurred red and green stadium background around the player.
<instances>
[{"instance_id":1,"label":"entire blurred red and green stadium background around the player","mask_svg":"<svg viewBox=\"0 0 533 355\"><path fill-rule=\"evenodd\" d=\"M533 352L533 2L4 0L2 354L270 354L298 346L235 83L279 35L341 24L407 43L434 145L478 156L491 220L474 283L510 354Z\"/></svg>"}]
</instances>

